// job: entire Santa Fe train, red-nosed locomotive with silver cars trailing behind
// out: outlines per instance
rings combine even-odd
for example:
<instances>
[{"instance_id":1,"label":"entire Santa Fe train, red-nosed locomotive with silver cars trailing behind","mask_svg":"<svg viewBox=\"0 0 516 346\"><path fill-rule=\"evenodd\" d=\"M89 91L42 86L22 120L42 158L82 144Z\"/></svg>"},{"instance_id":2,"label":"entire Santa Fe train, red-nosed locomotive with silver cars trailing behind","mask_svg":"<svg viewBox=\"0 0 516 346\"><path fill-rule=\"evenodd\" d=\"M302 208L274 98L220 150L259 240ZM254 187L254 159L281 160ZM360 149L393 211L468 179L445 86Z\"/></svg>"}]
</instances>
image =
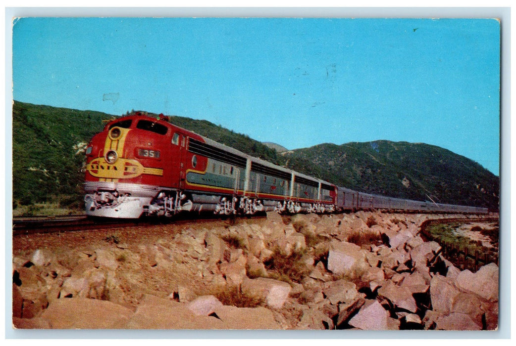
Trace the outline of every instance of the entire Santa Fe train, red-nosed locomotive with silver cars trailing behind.
<instances>
[{"instance_id":1,"label":"entire Santa Fe train, red-nosed locomotive with silver cars trailing behind","mask_svg":"<svg viewBox=\"0 0 516 346\"><path fill-rule=\"evenodd\" d=\"M486 208L366 194L252 157L144 112L110 120L86 147L86 214L137 219L357 210L478 213Z\"/></svg>"}]
</instances>

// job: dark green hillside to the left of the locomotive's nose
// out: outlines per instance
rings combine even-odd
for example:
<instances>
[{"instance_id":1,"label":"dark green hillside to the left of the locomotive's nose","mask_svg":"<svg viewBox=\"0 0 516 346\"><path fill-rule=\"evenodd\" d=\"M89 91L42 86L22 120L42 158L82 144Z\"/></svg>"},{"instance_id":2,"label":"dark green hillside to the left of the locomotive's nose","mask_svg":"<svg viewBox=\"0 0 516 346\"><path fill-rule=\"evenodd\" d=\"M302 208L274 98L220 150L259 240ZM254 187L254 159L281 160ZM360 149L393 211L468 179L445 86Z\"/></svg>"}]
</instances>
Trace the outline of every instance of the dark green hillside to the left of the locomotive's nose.
<instances>
[{"instance_id":1,"label":"dark green hillside to the left of the locomotive's nose","mask_svg":"<svg viewBox=\"0 0 516 346\"><path fill-rule=\"evenodd\" d=\"M82 203L84 149L111 115L14 101L13 199Z\"/></svg>"}]
</instances>

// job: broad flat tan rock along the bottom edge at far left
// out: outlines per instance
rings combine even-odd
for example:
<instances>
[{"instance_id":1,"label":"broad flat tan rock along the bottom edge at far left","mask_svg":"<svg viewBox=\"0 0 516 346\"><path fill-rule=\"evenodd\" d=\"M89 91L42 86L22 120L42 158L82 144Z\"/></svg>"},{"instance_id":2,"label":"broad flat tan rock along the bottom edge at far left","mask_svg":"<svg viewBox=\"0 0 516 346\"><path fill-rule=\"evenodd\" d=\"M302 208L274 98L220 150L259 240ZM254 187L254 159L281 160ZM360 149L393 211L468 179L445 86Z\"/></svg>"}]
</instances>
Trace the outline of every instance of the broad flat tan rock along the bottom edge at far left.
<instances>
[{"instance_id":1,"label":"broad flat tan rock along the bottom edge at far left","mask_svg":"<svg viewBox=\"0 0 516 346\"><path fill-rule=\"evenodd\" d=\"M41 318L54 329L112 329L122 327L132 315L132 310L109 301L65 298L54 300Z\"/></svg>"}]
</instances>

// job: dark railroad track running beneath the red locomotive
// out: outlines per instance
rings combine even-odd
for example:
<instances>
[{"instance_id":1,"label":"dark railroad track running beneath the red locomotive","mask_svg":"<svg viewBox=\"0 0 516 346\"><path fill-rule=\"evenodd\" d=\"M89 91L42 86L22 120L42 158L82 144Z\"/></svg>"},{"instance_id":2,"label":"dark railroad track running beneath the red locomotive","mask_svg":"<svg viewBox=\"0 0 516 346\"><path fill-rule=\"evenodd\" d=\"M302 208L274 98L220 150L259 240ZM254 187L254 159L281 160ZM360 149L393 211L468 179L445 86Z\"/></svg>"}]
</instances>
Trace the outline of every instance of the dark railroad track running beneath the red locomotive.
<instances>
[{"instance_id":1,"label":"dark railroad track running beneath the red locomotive","mask_svg":"<svg viewBox=\"0 0 516 346\"><path fill-rule=\"evenodd\" d=\"M255 215L253 218L263 218L265 216ZM71 216L40 216L40 217L17 217L12 221L12 234L19 236L33 233L56 233L83 230L96 230L115 227L131 226L155 226L158 224L187 224L191 222L213 222L226 220L231 222L230 216L214 214L206 215L178 215L170 219L141 218L141 219L107 219L92 218L86 215Z\"/></svg>"}]
</instances>

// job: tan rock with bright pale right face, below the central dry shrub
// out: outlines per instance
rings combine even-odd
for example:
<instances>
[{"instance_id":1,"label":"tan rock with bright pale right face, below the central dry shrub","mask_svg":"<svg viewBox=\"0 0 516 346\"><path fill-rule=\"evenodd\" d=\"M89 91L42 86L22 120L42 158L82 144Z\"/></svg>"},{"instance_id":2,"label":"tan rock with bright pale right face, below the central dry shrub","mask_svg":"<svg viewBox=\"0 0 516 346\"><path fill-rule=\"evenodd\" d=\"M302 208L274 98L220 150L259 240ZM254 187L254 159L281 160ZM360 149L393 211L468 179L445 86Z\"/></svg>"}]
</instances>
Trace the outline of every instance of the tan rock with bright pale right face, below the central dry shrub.
<instances>
[{"instance_id":1,"label":"tan rock with bright pale right face, below the central dry shrub","mask_svg":"<svg viewBox=\"0 0 516 346\"><path fill-rule=\"evenodd\" d=\"M291 286L283 281L257 278L245 278L241 285L243 293L255 295L265 300L268 306L279 309L283 307L291 291Z\"/></svg>"}]
</instances>

